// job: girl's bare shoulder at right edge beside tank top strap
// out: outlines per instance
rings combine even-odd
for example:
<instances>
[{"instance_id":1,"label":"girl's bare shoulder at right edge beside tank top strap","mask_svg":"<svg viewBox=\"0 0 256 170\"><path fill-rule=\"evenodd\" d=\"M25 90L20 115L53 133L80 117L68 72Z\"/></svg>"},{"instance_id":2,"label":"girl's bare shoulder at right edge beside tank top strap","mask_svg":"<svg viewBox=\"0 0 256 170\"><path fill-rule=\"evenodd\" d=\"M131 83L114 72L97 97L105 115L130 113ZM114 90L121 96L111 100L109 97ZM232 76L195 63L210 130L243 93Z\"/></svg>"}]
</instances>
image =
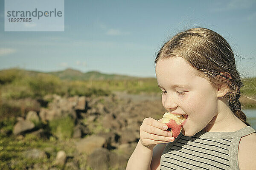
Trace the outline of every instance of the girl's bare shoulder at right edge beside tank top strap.
<instances>
[{"instance_id":1,"label":"girl's bare shoulder at right edge beside tank top strap","mask_svg":"<svg viewBox=\"0 0 256 170\"><path fill-rule=\"evenodd\" d=\"M256 167L256 133L241 138L238 150L238 162L240 170L248 170Z\"/></svg>"}]
</instances>

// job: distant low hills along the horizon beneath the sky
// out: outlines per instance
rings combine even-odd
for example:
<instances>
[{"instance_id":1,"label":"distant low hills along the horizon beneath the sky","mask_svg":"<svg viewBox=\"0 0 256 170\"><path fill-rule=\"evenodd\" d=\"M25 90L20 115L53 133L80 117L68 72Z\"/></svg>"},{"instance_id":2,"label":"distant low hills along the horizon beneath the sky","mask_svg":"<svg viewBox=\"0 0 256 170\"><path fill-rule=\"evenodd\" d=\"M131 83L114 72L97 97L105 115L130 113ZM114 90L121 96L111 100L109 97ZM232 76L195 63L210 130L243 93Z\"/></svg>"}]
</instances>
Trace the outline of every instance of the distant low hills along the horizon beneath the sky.
<instances>
[{"instance_id":1,"label":"distant low hills along the horizon beneath the sky","mask_svg":"<svg viewBox=\"0 0 256 170\"><path fill-rule=\"evenodd\" d=\"M79 70L75 70L72 68L67 68L64 71L55 71L55 72L39 72L39 71L27 71L23 70L20 68L10 68L6 70L1 70L2 71L7 71L7 70L15 70L15 71L24 71L26 74L30 76L35 76L36 74L39 73L44 73L44 74L51 74L56 77L59 77L60 79L65 79L65 80L131 80L131 79L141 79L140 77L131 77L131 76L126 76L126 75L119 75L119 74L103 74L100 73L99 71L89 71L86 73L82 73ZM147 79L147 78L146 78Z\"/></svg>"}]
</instances>

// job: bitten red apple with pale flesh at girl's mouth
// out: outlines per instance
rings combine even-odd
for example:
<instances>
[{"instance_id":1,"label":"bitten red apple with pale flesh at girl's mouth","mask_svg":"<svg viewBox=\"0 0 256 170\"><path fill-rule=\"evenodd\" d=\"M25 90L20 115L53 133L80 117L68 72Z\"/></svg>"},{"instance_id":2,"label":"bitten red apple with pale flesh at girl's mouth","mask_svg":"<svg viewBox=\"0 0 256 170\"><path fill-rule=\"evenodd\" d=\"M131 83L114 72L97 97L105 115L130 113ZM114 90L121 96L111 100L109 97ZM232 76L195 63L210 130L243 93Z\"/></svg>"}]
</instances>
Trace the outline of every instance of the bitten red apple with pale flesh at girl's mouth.
<instances>
[{"instance_id":1,"label":"bitten red apple with pale flesh at girl's mouth","mask_svg":"<svg viewBox=\"0 0 256 170\"><path fill-rule=\"evenodd\" d=\"M186 118L187 116L166 112L161 122L165 123L168 126L167 130L172 132L174 138L177 138L182 130L181 123L184 122Z\"/></svg>"}]
</instances>

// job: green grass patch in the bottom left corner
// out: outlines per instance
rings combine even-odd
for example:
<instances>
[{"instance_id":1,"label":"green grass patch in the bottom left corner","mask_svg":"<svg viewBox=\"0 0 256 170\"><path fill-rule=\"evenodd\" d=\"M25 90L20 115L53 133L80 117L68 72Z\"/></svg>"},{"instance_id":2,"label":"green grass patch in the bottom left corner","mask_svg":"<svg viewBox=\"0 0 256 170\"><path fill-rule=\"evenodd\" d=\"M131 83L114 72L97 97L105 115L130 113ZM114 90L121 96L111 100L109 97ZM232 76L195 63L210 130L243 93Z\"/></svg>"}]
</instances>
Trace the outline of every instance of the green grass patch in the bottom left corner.
<instances>
[{"instance_id":1,"label":"green grass patch in the bottom left corner","mask_svg":"<svg viewBox=\"0 0 256 170\"><path fill-rule=\"evenodd\" d=\"M48 156L41 159L27 157L24 153L33 148L45 151ZM35 164L49 169L52 167L59 150L64 150L67 156L76 153L76 148L72 142L41 139L32 134L15 137L0 133L0 170L26 170L33 168ZM60 169L60 167L57 168Z\"/></svg>"}]
</instances>

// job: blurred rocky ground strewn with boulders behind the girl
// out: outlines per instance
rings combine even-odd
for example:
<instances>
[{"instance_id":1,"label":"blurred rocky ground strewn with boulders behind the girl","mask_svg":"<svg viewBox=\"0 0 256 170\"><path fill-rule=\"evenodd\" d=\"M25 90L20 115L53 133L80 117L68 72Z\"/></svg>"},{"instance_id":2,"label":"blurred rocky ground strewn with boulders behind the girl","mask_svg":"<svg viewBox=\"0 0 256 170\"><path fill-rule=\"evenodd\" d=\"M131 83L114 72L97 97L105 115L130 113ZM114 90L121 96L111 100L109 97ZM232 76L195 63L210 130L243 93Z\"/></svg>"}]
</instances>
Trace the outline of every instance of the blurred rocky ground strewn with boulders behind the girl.
<instances>
[{"instance_id":1,"label":"blurred rocky ground strewn with boulders behind the girl","mask_svg":"<svg viewBox=\"0 0 256 170\"><path fill-rule=\"evenodd\" d=\"M53 94L43 100L44 107L16 118L10 134L20 144L27 142L27 136L52 144L23 148L22 156L30 160L23 169L124 170L140 138L143 119L160 119L165 112L160 96L154 94L114 92L67 98ZM1 133L8 131L2 128ZM8 144L3 144L0 151L6 148ZM15 169L17 162L6 159L5 167Z\"/></svg>"}]
</instances>

